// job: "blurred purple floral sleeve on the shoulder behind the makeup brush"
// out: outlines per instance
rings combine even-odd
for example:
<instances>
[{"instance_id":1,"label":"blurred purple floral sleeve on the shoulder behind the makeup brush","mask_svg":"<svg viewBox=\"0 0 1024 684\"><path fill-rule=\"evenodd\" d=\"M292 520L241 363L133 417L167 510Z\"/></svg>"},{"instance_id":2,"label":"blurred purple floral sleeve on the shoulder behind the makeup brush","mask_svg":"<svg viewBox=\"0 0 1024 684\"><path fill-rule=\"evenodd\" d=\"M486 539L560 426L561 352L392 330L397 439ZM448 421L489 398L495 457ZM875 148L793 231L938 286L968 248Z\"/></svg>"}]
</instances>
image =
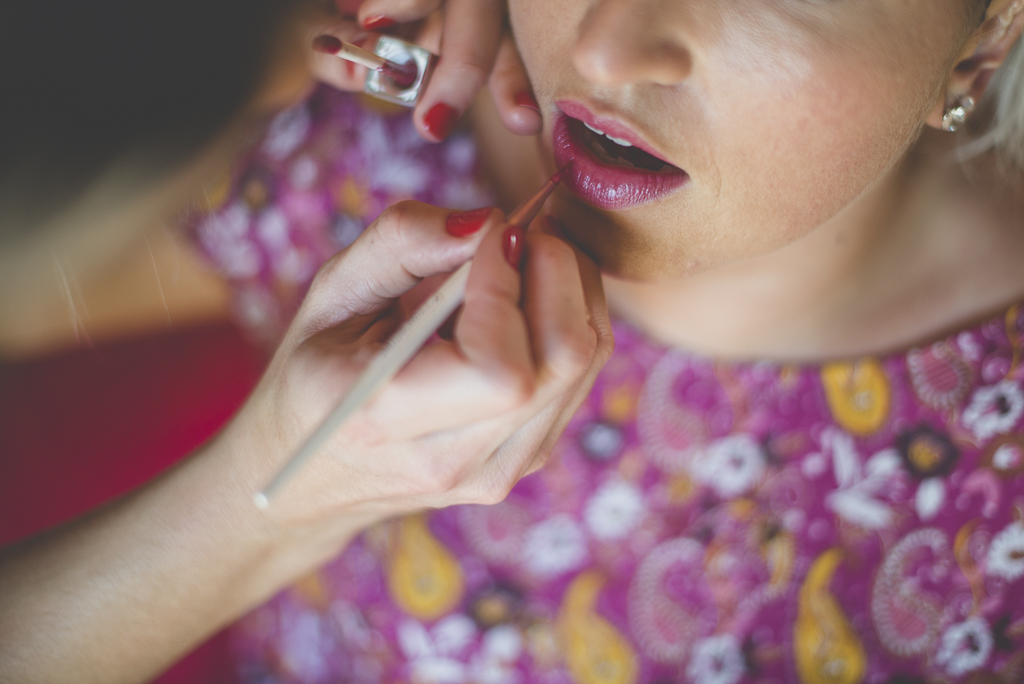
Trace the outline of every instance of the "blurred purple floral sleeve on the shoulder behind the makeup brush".
<instances>
[{"instance_id":1,"label":"blurred purple floral sleeve on the shoulder behind the makeup brush","mask_svg":"<svg viewBox=\"0 0 1024 684\"><path fill-rule=\"evenodd\" d=\"M321 264L400 200L490 204L472 139L430 144L408 110L323 86L275 117L183 222L231 283L239 320L275 344Z\"/></svg>"}]
</instances>

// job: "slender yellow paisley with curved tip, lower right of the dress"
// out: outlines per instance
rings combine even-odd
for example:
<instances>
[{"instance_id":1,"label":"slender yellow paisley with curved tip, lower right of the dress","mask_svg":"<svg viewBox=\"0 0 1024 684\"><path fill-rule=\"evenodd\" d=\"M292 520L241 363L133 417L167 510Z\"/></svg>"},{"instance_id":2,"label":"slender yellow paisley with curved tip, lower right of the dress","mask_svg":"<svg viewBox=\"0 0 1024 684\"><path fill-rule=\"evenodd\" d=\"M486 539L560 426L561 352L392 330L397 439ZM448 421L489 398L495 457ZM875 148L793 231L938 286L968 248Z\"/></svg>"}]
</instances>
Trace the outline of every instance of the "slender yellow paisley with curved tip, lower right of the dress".
<instances>
[{"instance_id":1,"label":"slender yellow paisley with curved tip, lower right of the dress","mask_svg":"<svg viewBox=\"0 0 1024 684\"><path fill-rule=\"evenodd\" d=\"M857 684L864 676L864 647L828 591L842 559L839 549L825 551L800 588L793 646L803 684Z\"/></svg>"}]
</instances>

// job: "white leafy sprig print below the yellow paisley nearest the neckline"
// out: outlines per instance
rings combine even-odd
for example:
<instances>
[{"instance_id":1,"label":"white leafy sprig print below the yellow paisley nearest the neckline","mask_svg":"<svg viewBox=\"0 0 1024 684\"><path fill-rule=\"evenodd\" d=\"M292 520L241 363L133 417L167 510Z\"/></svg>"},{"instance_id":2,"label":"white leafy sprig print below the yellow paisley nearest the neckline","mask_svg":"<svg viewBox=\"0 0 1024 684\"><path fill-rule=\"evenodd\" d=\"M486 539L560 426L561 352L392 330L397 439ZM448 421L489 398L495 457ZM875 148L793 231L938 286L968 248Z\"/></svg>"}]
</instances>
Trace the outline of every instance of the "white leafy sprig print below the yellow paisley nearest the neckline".
<instances>
[{"instance_id":1,"label":"white leafy sprig print below the yellow paisley nearest the neckline","mask_svg":"<svg viewBox=\"0 0 1024 684\"><path fill-rule=\"evenodd\" d=\"M893 522L893 509L882 501L882 495L901 469L896 450L883 450L861 464L853 437L836 429L822 433L821 445L822 451L831 454L833 473L839 485L825 497L825 506L860 527L889 527Z\"/></svg>"}]
</instances>

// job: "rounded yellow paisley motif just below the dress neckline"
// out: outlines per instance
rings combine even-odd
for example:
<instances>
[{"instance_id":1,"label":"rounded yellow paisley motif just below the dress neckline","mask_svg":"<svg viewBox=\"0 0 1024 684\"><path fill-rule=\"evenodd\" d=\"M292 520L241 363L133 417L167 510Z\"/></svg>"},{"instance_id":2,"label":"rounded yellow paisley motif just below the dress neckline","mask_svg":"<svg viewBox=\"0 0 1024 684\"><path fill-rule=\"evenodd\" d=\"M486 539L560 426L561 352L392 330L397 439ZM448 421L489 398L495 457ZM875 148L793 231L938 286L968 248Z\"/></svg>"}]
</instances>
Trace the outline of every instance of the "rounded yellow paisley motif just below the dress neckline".
<instances>
[{"instance_id":1,"label":"rounded yellow paisley motif just below the dress neckline","mask_svg":"<svg viewBox=\"0 0 1024 684\"><path fill-rule=\"evenodd\" d=\"M889 417L889 379L873 358L825 364L821 384L833 417L848 432L870 434Z\"/></svg>"}]
</instances>

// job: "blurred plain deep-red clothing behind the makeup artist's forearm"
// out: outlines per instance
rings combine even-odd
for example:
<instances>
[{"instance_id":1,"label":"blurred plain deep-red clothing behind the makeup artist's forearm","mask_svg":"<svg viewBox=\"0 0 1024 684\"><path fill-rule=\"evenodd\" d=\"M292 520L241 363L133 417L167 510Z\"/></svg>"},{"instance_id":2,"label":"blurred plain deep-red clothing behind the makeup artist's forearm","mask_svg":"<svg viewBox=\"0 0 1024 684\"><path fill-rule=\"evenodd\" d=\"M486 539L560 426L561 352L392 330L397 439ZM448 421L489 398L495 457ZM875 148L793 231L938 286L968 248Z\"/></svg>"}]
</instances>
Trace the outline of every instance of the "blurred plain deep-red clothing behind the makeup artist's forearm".
<instances>
[{"instance_id":1,"label":"blurred plain deep-red clothing behind the makeup artist's forearm","mask_svg":"<svg viewBox=\"0 0 1024 684\"><path fill-rule=\"evenodd\" d=\"M212 436L264 358L228 325L0 361L0 545L138 486ZM157 681L236 681L217 635Z\"/></svg>"}]
</instances>

